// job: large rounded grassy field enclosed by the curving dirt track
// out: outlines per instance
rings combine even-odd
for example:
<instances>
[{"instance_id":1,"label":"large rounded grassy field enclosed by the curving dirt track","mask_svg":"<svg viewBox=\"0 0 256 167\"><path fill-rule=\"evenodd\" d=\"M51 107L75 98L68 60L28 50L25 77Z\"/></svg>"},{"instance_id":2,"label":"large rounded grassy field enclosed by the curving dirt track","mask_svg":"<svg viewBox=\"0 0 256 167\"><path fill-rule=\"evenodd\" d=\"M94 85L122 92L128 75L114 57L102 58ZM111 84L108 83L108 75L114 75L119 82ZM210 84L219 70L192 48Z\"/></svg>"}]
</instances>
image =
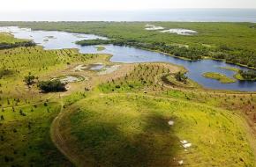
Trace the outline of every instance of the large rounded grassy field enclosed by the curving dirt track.
<instances>
[{"instance_id":1,"label":"large rounded grassy field enclosed by the curving dirt track","mask_svg":"<svg viewBox=\"0 0 256 167\"><path fill-rule=\"evenodd\" d=\"M65 139L87 166L253 166L245 122L228 111L136 94L84 99L66 110Z\"/></svg>"}]
</instances>

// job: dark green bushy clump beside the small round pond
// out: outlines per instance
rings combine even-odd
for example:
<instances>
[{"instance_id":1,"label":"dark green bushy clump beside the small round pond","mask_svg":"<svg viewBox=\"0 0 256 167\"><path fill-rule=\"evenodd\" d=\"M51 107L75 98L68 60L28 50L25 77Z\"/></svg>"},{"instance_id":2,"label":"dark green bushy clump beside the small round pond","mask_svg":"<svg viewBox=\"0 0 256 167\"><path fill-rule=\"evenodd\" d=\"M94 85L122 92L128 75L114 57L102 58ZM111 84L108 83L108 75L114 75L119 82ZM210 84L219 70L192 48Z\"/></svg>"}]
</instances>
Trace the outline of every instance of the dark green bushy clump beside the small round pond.
<instances>
[{"instance_id":1,"label":"dark green bushy clump beside the small round pond","mask_svg":"<svg viewBox=\"0 0 256 167\"><path fill-rule=\"evenodd\" d=\"M49 80L49 81L41 81L38 84L38 87L43 92L58 92L58 91L66 91L64 83L62 83L58 79Z\"/></svg>"}]
</instances>

